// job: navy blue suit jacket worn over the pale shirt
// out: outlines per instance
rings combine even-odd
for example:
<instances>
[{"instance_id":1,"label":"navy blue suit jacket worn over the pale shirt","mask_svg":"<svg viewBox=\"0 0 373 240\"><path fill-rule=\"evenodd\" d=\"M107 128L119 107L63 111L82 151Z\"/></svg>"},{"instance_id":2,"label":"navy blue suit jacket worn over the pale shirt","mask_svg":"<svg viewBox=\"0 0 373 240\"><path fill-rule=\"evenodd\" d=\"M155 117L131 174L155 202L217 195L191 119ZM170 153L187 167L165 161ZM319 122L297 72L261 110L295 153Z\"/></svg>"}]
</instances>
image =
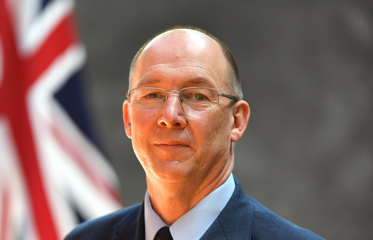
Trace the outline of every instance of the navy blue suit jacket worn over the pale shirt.
<instances>
[{"instance_id":1,"label":"navy blue suit jacket worn over the pale shirt","mask_svg":"<svg viewBox=\"0 0 373 240\"><path fill-rule=\"evenodd\" d=\"M223 211L201 239L322 239L315 233L275 215L245 195L236 178L236 189ZM76 227L65 240L145 239L144 203L124 208Z\"/></svg>"}]
</instances>

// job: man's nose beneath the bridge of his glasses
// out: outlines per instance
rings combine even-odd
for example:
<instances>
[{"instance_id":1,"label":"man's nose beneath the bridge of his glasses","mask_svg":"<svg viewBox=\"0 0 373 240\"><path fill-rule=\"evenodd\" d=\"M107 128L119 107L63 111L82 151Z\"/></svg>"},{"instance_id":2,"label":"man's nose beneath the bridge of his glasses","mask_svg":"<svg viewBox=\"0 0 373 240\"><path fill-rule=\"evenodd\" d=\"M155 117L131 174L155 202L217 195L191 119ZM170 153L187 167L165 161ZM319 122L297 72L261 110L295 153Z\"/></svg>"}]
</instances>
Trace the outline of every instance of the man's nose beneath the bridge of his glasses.
<instances>
[{"instance_id":1,"label":"man's nose beneath the bridge of his glasses","mask_svg":"<svg viewBox=\"0 0 373 240\"><path fill-rule=\"evenodd\" d=\"M178 93L168 93L167 101L161 109L158 125L164 128L185 128L187 125L185 111Z\"/></svg>"}]
</instances>

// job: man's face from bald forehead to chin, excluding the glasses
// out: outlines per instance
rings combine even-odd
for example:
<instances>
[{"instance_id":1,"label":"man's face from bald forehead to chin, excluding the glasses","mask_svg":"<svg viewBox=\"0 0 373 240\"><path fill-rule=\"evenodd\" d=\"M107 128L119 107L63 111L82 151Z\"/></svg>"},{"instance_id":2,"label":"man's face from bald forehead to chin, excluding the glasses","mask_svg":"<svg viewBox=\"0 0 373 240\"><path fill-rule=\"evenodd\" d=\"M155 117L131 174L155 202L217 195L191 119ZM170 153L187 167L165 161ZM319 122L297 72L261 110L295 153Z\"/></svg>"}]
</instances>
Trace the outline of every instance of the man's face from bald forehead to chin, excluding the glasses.
<instances>
[{"instance_id":1,"label":"man's face from bald forehead to chin, excluding the glasses","mask_svg":"<svg viewBox=\"0 0 373 240\"><path fill-rule=\"evenodd\" d=\"M214 40L193 30L177 30L155 38L144 49L131 88L179 91L201 86L229 94L226 75L226 60ZM200 182L227 171L233 164L229 154L234 118L229 107L229 99L221 97L212 108L187 110L177 93L169 93L159 111L135 110L127 100L126 134L146 176L165 182Z\"/></svg>"}]
</instances>

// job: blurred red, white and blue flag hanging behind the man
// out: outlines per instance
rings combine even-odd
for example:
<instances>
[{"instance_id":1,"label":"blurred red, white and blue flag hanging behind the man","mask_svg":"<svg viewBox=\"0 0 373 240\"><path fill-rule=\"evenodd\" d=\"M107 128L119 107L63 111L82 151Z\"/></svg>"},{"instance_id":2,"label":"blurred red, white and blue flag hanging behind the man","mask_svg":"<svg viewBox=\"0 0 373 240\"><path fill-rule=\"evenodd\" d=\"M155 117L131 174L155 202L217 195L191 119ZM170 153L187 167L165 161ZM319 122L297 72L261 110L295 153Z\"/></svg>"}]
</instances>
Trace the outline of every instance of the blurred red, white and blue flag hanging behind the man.
<instances>
[{"instance_id":1,"label":"blurred red, white and blue flag hanging behind the man","mask_svg":"<svg viewBox=\"0 0 373 240\"><path fill-rule=\"evenodd\" d=\"M0 240L63 239L121 208L96 147L73 0L0 0Z\"/></svg>"}]
</instances>

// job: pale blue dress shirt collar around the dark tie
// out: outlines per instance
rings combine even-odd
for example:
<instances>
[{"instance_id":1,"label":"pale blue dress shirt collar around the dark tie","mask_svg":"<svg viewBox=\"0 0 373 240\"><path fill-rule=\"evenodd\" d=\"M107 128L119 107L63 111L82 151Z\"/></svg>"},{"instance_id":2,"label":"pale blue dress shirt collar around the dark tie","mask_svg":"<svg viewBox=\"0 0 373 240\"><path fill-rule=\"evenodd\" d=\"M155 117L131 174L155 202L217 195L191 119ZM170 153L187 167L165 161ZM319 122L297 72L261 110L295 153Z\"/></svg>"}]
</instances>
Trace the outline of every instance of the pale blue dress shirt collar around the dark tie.
<instances>
[{"instance_id":1,"label":"pale blue dress shirt collar around the dark tie","mask_svg":"<svg viewBox=\"0 0 373 240\"><path fill-rule=\"evenodd\" d=\"M227 180L209 195L204 197L194 208L182 215L170 226L174 240L200 239L206 230L223 211L231 198L236 185L232 173ZM155 213L150 203L148 191L144 200L145 240L153 240L159 228L167 224Z\"/></svg>"}]
</instances>

